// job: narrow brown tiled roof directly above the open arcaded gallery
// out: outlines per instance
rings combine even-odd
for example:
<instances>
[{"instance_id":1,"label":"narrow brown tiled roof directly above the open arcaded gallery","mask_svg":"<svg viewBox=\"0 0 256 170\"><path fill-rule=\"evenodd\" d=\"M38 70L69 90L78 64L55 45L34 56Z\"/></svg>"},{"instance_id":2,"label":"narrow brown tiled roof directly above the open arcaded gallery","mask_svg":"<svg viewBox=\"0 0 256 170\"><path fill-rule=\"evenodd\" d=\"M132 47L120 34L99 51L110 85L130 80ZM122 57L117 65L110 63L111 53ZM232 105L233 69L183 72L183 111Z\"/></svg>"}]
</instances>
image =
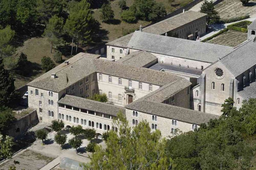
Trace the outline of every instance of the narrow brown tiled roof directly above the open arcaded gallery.
<instances>
[{"instance_id":1,"label":"narrow brown tiled roof directly above the open arcaded gallery","mask_svg":"<svg viewBox=\"0 0 256 170\"><path fill-rule=\"evenodd\" d=\"M98 102L98 101L94 101L94 100L90 100L82 97L77 97L77 96L65 95L58 101L58 103L66 104L66 105L70 105L73 107L78 107L81 109L86 109L94 112L105 113L112 116L116 116L119 111L121 111L125 115L124 107L119 107L113 104L102 103L102 102Z\"/></svg>"}]
</instances>

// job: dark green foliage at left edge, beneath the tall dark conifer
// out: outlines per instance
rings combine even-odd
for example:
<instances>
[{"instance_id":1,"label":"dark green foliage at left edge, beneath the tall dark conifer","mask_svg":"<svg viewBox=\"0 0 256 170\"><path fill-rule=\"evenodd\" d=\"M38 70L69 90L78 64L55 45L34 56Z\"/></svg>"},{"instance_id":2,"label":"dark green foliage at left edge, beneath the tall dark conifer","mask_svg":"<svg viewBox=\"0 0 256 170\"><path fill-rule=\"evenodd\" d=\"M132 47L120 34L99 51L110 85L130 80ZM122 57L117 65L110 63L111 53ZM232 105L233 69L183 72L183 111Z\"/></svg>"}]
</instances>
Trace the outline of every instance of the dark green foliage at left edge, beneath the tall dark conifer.
<instances>
[{"instance_id":1,"label":"dark green foliage at left edge, beneath the tall dark conifer","mask_svg":"<svg viewBox=\"0 0 256 170\"><path fill-rule=\"evenodd\" d=\"M17 119L14 117L12 109L0 106L0 133L5 134L5 130L10 124L14 123Z\"/></svg>"}]
</instances>

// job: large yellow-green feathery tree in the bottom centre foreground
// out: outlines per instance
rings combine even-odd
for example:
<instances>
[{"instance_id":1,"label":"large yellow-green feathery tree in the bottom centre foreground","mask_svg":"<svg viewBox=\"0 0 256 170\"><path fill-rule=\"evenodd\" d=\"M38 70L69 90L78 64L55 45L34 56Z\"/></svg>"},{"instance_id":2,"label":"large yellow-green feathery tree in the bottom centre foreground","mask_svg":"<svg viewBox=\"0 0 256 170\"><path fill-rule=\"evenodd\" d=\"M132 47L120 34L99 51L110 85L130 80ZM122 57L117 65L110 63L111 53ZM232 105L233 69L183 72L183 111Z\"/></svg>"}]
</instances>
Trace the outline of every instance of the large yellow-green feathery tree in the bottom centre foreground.
<instances>
[{"instance_id":1,"label":"large yellow-green feathery tree in the bottom centre foreground","mask_svg":"<svg viewBox=\"0 0 256 170\"><path fill-rule=\"evenodd\" d=\"M91 162L83 164L84 169L169 169L166 140L160 131L151 132L144 120L132 129L121 112L117 116L119 120L114 124L119 132L109 132L106 149L95 146Z\"/></svg>"}]
</instances>

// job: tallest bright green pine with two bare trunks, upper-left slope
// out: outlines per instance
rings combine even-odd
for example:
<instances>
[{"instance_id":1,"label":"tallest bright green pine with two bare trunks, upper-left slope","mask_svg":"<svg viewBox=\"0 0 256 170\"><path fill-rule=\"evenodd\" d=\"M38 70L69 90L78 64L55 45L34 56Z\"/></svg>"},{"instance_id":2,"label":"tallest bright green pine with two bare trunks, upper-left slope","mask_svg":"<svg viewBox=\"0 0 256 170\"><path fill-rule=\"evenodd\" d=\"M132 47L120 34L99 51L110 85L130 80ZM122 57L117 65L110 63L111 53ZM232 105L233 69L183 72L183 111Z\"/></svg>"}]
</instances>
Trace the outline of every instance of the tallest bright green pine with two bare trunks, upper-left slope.
<instances>
[{"instance_id":1,"label":"tallest bright green pine with two bare trunks, upper-left slope","mask_svg":"<svg viewBox=\"0 0 256 170\"><path fill-rule=\"evenodd\" d=\"M77 3L70 11L64 29L72 38L71 57L73 53L73 42L76 40L76 52L81 40L90 42L92 39L91 31L94 26L92 9L86 0ZM97 28L95 28L97 29Z\"/></svg>"}]
</instances>

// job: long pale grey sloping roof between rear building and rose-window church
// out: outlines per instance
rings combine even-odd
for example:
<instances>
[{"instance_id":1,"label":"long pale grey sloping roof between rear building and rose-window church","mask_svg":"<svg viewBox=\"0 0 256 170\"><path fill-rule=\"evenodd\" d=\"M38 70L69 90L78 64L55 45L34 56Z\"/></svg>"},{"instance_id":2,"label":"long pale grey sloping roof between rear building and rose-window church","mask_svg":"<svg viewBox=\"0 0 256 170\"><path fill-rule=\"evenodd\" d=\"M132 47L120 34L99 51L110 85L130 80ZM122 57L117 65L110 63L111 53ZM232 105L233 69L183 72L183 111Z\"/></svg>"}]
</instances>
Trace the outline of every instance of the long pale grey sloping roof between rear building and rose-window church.
<instances>
[{"instance_id":1,"label":"long pale grey sloping roof between rear building and rose-window church","mask_svg":"<svg viewBox=\"0 0 256 170\"><path fill-rule=\"evenodd\" d=\"M213 63L234 51L232 47L135 31L128 48Z\"/></svg>"}]
</instances>

